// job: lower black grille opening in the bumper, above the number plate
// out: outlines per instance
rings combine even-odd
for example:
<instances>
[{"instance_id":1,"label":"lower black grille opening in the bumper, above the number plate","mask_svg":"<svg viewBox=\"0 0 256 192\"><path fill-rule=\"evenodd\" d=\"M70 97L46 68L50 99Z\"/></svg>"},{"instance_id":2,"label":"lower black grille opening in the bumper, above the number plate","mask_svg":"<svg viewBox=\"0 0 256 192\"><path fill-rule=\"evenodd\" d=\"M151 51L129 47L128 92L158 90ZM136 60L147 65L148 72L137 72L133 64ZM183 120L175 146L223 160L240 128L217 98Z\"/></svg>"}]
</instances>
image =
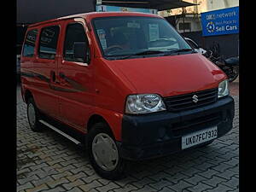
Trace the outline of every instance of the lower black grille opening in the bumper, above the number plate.
<instances>
[{"instance_id":1,"label":"lower black grille opening in the bumper, above the number plate","mask_svg":"<svg viewBox=\"0 0 256 192\"><path fill-rule=\"evenodd\" d=\"M221 113L212 113L195 119L172 124L173 137L181 137L194 131L200 131L221 121Z\"/></svg>"}]
</instances>

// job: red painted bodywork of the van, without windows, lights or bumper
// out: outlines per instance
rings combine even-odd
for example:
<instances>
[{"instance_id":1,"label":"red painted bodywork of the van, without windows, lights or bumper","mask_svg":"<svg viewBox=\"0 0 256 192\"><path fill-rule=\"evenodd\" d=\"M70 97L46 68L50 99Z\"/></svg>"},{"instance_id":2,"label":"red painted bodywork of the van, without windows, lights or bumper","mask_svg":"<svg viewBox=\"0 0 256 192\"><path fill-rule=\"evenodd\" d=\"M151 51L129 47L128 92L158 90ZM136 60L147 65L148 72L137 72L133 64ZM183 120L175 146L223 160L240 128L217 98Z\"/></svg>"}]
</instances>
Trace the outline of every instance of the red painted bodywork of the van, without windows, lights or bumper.
<instances>
[{"instance_id":1,"label":"red painted bodywork of the van, without windows, lights or bumper","mask_svg":"<svg viewBox=\"0 0 256 192\"><path fill-rule=\"evenodd\" d=\"M33 58L21 57L21 73L39 73L50 79L47 83L38 78L22 77L22 93L30 90L39 109L82 132L86 132L92 115L100 115L108 122L116 140L121 141L122 117L128 95L156 93L175 96L218 87L218 83L226 79L218 67L200 54L105 60L96 34L91 30L90 20L115 15L159 17L136 13L90 13L30 26L29 29L40 29L55 24L61 27L61 31L54 61L39 59L37 51ZM89 65L63 60L63 42L69 22L84 25L91 51ZM55 82L51 80L51 72L55 73ZM60 73L68 80L62 79Z\"/></svg>"}]
</instances>

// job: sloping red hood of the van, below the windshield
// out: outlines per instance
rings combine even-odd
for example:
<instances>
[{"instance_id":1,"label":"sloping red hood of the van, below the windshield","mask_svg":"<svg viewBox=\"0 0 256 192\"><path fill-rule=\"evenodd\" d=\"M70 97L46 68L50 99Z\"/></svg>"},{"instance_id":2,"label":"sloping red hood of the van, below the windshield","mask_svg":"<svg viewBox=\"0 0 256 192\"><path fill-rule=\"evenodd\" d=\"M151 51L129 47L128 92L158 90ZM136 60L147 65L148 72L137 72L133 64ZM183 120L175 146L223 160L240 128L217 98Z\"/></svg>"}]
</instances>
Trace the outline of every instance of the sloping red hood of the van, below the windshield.
<instances>
[{"instance_id":1,"label":"sloping red hood of the van, below the windshield","mask_svg":"<svg viewBox=\"0 0 256 192\"><path fill-rule=\"evenodd\" d=\"M226 75L201 54L110 61L133 84L137 94L176 96L218 87Z\"/></svg>"}]
</instances>

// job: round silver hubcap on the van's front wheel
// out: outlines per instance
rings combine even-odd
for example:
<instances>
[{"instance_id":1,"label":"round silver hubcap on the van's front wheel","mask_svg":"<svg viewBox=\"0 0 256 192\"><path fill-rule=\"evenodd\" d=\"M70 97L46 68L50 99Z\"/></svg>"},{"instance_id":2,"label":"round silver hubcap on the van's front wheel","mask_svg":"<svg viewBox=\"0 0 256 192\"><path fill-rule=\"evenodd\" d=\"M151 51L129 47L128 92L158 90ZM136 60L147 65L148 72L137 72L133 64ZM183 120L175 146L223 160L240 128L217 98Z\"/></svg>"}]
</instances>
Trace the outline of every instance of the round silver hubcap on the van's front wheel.
<instances>
[{"instance_id":1,"label":"round silver hubcap on the van's front wheel","mask_svg":"<svg viewBox=\"0 0 256 192\"><path fill-rule=\"evenodd\" d=\"M119 153L113 139L108 134L100 133L92 142L92 154L96 164L105 171L112 171L118 165Z\"/></svg>"}]
</instances>

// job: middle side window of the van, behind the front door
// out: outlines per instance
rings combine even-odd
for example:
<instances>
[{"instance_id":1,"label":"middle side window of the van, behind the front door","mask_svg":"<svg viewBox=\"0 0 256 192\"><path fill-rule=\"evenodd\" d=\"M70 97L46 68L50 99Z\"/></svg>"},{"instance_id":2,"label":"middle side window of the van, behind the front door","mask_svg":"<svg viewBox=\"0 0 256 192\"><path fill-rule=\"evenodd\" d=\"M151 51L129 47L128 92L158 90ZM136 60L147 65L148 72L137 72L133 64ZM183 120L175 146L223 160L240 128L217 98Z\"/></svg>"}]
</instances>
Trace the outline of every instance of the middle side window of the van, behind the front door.
<instances>
[{"instance_id":1,"label":"middle side window of the van, behind the front door","mask_svg":"<svg viewBox=\"0 0 256 192\"><path fill-rule=\"evenodd\" d=\"M60 33L59 26L47 26L42 29L38 56L43 59L54 60Z\"/></svg>"}]
</instances>

